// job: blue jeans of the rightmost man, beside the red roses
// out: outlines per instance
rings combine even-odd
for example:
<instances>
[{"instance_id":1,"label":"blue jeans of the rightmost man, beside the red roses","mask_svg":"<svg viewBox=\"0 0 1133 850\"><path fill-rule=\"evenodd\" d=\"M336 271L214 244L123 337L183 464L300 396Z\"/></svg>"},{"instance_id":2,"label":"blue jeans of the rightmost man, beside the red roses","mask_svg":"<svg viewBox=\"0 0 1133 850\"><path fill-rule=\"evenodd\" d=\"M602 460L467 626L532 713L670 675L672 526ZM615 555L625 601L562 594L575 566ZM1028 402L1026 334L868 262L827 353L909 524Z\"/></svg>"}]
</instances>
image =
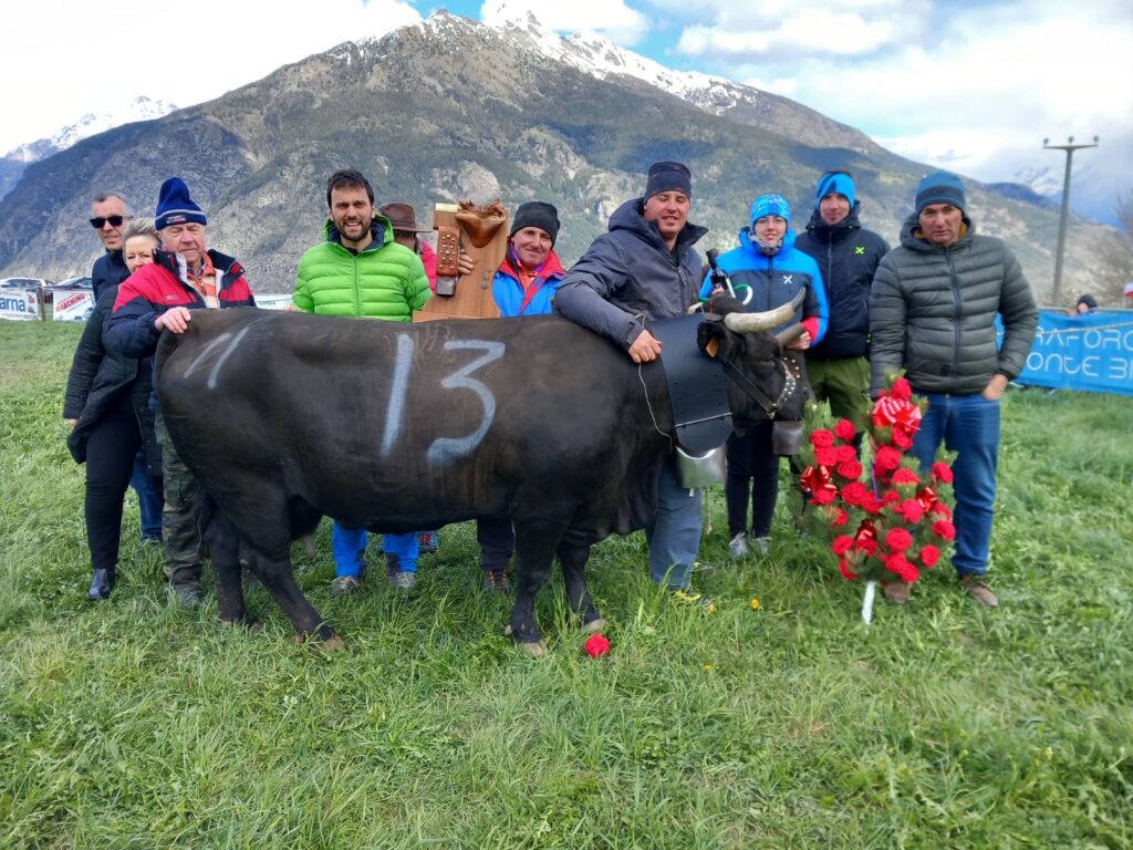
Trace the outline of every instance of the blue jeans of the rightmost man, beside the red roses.
<instances>
[{"instance_id":1,"label":"blue jeans of the rightmost man, beside the red roses","mask_svg":"<svg viewBox=\"0 0 1133 850\"><path fill-rule=\"evenodd\" d=\"M928 410L913 439L912 454L920 461L921 470L928 471L942 441L949 451L956 452L952 465L956 553L952 563L960 576L982 576L988 569L995 517L999 400L989 401L978 392L923 396L928 399Z\"/></svg>"}]
</instances>

